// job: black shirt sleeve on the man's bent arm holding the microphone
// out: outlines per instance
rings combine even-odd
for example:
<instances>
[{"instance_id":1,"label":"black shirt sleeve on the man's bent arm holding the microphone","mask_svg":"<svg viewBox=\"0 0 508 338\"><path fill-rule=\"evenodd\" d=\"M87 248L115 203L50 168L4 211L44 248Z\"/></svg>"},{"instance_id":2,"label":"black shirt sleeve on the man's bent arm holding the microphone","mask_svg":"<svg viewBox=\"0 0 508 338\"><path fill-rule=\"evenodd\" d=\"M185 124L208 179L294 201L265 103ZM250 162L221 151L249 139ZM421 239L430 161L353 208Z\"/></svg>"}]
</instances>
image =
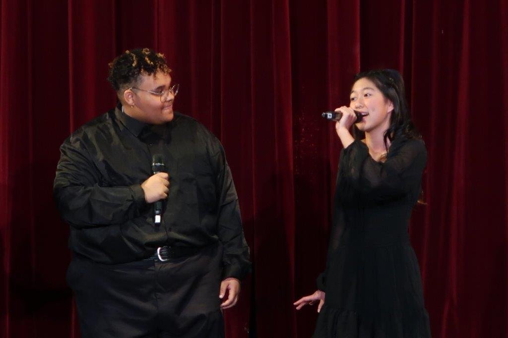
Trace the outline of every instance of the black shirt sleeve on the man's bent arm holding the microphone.
<instances>
[{"instance_id":1,"label":"black shirt sleeve on the man's bent arm holding the microphone","mask_svg":"<svg viewBox=\"0 0 508 338\"><path fill-rule=\"evenodd\" d=\"M61 217L74 228L119 224L139 216L145 206L139 184L103 187L83 142L69 138L60 147L53 197Z\"/></svg>"}]
</instances>

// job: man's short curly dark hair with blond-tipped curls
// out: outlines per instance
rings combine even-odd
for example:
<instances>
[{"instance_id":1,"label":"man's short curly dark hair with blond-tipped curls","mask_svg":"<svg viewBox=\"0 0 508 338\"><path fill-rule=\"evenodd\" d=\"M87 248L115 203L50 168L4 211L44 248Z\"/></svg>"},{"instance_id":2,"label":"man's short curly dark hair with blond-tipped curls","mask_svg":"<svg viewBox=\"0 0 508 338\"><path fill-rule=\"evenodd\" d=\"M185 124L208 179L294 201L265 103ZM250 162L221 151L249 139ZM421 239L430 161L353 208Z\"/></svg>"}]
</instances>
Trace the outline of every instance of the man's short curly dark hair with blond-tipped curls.
<instances>
[{"instance_id":1,"label":"man's short curly dark hair with blond-tipped curls","mask_svg":"<svg viewBox=\"0 0 508 338\"><path fill-rule=\"evenodd\" d=\"M136 84L140 75L159 71L164 74L171 72L164 54L155 53L150 48L126 50L109 63L108 81L118 91Z\"/></svg>"}]
</instances>

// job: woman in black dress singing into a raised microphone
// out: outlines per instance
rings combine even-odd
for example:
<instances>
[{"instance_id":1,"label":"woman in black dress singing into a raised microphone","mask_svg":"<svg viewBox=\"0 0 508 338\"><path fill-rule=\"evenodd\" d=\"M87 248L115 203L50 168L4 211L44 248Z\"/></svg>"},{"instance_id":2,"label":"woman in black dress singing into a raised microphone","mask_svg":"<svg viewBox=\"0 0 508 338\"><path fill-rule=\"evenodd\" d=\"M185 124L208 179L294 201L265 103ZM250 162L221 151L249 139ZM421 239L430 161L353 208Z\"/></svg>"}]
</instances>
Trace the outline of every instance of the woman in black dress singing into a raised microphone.
<instances>
[{"instance_id":1,"label":"woman in black dress singing into a raised microphone","mask_svg":"<svg viewBox=\"0 0 508 338\"><path fill-rule=\"evenodd\" d=\"M342 142L327 267L314 337L430 337L418 261L407 233L427 153L394 70L358 74L335 123ZM363 115L357 120L355 111ZM326 302L325 302L326 294Z\"/></svg>"}]
</instances>

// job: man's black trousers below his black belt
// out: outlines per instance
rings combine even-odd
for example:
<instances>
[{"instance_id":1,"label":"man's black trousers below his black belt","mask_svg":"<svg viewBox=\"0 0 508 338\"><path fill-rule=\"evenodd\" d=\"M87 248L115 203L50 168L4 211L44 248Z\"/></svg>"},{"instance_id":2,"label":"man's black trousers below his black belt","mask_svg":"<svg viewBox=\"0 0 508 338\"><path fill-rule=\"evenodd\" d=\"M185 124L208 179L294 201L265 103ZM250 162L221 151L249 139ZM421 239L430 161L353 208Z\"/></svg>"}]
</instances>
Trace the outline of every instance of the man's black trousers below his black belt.
<instances>
[{"instance_id":1,"label":"man's black trousers below his black belt","mask_svg":"<svg viewBox=\"0 0 508 338\"><path fill-rule=\"evenodd\" d=\"M100 264L74 256L67 281L83 338L224 337L222 246L167 262Z\"/></svg>"}]
</instances>

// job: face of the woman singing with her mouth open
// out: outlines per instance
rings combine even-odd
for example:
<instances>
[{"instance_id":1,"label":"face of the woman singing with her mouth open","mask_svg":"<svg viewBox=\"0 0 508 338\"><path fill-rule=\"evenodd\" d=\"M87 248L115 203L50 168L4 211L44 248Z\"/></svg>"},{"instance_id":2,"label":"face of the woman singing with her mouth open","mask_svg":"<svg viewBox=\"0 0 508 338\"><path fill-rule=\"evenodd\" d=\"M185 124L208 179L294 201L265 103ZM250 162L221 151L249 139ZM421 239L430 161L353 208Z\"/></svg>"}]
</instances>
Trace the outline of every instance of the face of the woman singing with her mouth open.
<instances>
[{"instance_id":1,"label":"face of the woman singing with her mouth open","mask_svg":"<svg viewBox=\"0 0 508 338\"><path fill-rule=\"evenodd\" d=\"M365 132L382 131L390 127L393 103L385 98L376 85L367 78L353 84L350 95L350 108L368 113L356 126Z\"/></svg>"}]
</instances>

